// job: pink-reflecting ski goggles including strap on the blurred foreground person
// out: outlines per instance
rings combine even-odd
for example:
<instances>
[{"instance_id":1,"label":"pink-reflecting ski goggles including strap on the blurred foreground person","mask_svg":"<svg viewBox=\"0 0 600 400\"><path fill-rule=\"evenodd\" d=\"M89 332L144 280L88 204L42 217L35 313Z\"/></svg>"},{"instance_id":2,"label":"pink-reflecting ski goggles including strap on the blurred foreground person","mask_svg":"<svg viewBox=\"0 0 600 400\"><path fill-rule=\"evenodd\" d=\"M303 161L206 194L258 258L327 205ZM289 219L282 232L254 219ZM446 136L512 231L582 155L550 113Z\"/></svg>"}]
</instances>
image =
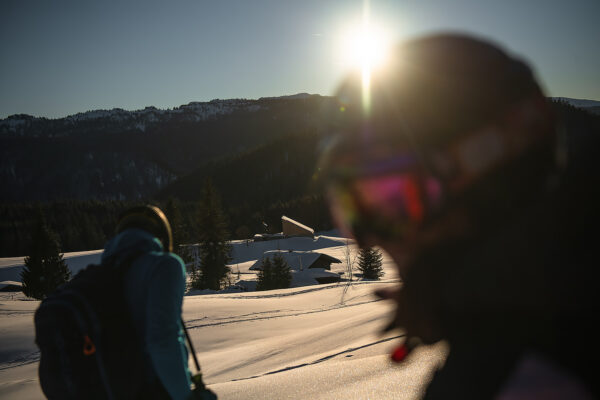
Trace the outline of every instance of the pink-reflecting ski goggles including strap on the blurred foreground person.
<instances>
[{"instance_id":1,"label":"pink-reflecting ski goggles including strap on the blurred foreground person","mask_svg":"<svg viewBox=\"0 0 600 400\"><path fill-rule=\"evenodd\" d=\"M515 106L515 118L528 115L531 101L537 100L527 99ZM535 117L535 108L532 112ZM331 164L329 201L334 222L359 244L367 236L402 239L451 198L535 146L544 132L541 128L513 131L493 124L484 126L431 151L428 168L415 152L366 161L361 158L363 154L351 151L338 159L338 164Z\"/></svg>"}]
</instances>

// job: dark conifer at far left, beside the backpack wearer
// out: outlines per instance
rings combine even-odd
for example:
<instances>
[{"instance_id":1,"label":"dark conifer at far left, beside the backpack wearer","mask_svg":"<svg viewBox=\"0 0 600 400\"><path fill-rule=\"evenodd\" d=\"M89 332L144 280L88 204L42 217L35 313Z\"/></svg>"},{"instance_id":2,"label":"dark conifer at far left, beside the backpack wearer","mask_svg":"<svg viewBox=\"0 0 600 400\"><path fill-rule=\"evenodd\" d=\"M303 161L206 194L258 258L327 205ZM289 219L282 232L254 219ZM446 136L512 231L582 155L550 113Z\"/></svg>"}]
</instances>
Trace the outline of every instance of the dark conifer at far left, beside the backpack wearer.
<instances>
[{"instance_id":1,"label":"dark conifer at far left, beside the backpack wearer","mask_svg":"<svg viewBox=\"0 0 600 400\"><path fill-rule=\"evenodd\" d=\"M42 300L68 282L71 271L60 254L58 238L46 224L41 210L32 236L31 249L21 271L22 290L26 296Z\"/></svg>"}]
</instances>

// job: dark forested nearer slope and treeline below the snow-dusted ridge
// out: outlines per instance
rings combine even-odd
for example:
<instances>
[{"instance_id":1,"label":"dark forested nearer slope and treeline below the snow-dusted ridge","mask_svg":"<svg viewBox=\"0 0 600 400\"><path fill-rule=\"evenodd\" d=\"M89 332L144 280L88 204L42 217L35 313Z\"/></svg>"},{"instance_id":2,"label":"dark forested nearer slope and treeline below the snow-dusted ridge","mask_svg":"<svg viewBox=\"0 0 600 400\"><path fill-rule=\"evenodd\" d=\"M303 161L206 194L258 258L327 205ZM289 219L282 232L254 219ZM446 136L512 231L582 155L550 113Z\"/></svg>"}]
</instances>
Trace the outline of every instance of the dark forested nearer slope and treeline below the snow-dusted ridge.
<instances>
[{"instance_id":1,"label":"dark forested nearer slope and treeline below the snow-dusted ridge","mask_svg":"<svg viewBox=\"0 0 600 400\"><path fill-rule=\"evenodd\" d=\"M318 135L283 136L234 157L207 162L180 177L154 198L144 200L64 200L45 203L0 203L0 257L24 255L31 243L36 210L46 216L66 252L100 249L113 235L120 212L152 203L178 209L180 243L195 243L195 222L202 182L211 179L223 203L225 223L232 239L247 239L281 228L287 215L316 231L331 229L331 218L315 171ZM171 206L168 206L171 204ZM166 211L168 214L168 210Z\"/></svg>"}]
</instances>

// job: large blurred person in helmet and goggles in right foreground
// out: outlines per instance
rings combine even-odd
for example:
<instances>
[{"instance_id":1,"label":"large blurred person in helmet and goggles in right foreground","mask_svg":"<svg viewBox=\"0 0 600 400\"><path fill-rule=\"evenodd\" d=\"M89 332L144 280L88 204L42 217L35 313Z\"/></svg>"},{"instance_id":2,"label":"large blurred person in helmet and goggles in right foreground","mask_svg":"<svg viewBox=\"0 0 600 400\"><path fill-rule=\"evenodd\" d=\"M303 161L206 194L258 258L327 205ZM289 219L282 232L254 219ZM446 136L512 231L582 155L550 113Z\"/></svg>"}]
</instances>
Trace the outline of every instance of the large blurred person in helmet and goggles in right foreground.
<instances>
[{"instance_id":1,"label":"large blurred person in helmet and goggles in right foreground","mask_svg":"<svg viewBox=\"0 0 600 400\"><path fill-rule=\"evenodd\" d=\"M397 265L393 359L448 343L426 399L599 397L600 133L559 129L531 69L466 35L363 79L337 93L323 170L342 233Z\"/></svg>"}]
</instances>

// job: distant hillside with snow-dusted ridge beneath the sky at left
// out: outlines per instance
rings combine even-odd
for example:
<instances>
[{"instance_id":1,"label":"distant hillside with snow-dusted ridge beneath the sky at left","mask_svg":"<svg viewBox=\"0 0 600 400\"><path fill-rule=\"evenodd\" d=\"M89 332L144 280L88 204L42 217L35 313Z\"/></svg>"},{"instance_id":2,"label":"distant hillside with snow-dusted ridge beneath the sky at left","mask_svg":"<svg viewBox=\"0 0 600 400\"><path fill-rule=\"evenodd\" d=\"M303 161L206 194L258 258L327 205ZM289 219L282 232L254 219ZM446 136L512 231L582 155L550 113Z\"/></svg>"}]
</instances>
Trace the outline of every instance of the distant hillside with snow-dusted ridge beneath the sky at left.
<instances>
[{"instance_id":1,"label":"distant hillside with snow-dusted ridge beneath the sky at left","mask_svg":"<svg viewBox=\"0 0 600 400\"><path fill-rule=\"evenodd\" d=\"M318 133L318 95L213 100L172 110L96 110L0 121L0 201L151 197L209 160L288 134Z\"/></svg>"}]
</instances>

